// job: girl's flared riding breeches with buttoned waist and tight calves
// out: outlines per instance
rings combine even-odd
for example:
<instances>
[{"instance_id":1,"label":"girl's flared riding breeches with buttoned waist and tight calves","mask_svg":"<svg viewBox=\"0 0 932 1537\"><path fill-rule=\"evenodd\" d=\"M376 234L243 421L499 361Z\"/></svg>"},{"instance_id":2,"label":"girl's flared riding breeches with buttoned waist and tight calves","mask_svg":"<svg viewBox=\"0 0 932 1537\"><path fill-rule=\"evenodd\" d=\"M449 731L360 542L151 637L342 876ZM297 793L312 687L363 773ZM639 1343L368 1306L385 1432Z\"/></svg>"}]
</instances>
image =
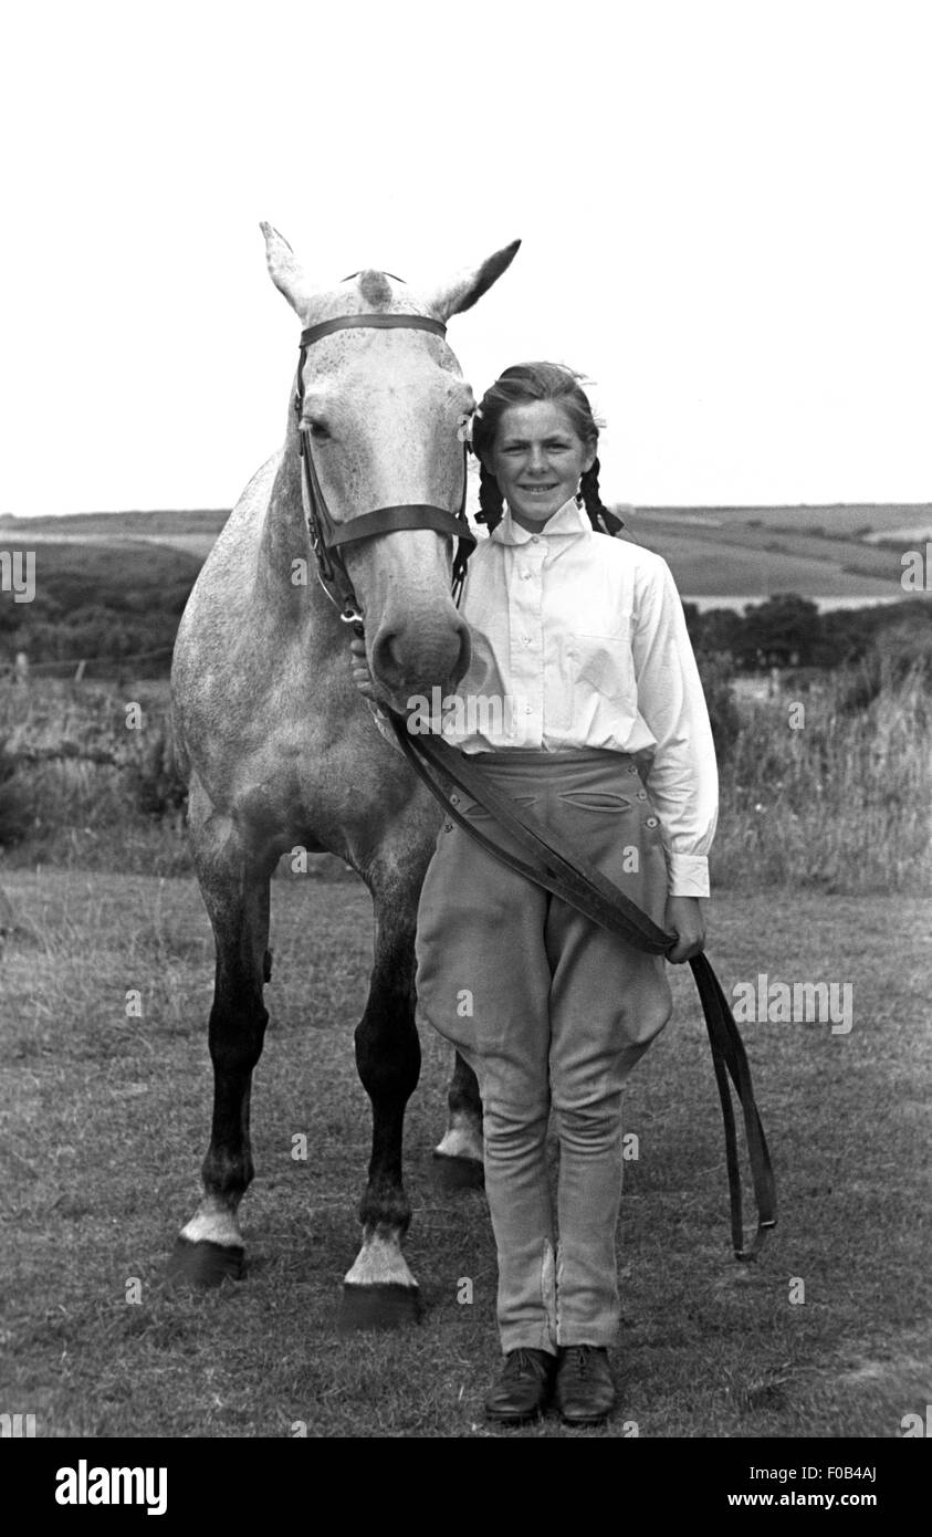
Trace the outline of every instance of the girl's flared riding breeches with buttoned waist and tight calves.
<instances>
[{"instance_id":1,"label":"girl's flared riding breeches with buttoned waist and tight calves","mask_svg":"<svg viewBox=\"0 0 932 1537\"><path fill-rule=\"evenodd\" d=\"M480 762L494 787L664 924L660 824L627 753L511 750ZM521 853L478 802L460 795L457 805ZM418 1022L452 1042L480 1084L503 1349L611 1345L621 1099L671 1016L663 959L598 928L444 822L421 891L417 962Z\"/></svg>"}]
</instances>

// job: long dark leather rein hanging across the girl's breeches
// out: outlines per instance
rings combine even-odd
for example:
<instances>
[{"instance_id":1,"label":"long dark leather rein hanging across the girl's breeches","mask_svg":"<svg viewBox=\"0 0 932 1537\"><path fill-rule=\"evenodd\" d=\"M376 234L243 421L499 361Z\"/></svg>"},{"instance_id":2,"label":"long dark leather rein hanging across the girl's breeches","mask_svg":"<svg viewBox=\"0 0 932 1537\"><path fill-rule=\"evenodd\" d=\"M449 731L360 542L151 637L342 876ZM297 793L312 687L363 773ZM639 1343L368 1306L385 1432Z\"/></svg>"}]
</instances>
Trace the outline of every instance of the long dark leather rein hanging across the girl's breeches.
<instances>
[{"instance_id":1,"label":"long dark leather rein hanging across the girl's breeches","mask_svg":"<svg viewBox=\"0 0 932 1537\"><path fill-rule=\"evenodd\" d=\"M437 735L411 733L408 721L401 713L391 710L388 705L380 705L380 709L389 716L401 752L418 778L428 785L431 795L440 801L446 815L458 822L488 853L512 870L517 870L528 881L534 881L544 890L552 891L554 896L575 907L577 911L583 913L594 924L607 928L609 933L617 934L635 948L644 950L649 954L666 954L674 947L677 942L675 934L667 933L666 928L660 928L614 881L609 881L587 859L580 858L575 850L569 850L561 839L557 839L549 828L544 828L512 796L494 788L474 756L457 752L457 749L441 741ZM494 825L509 833L529 858L523 859L511 850L503 848L495 838L488 838L475 822L471 822L457 808L457 796L448 795L438 784L438 778L444 778L455 788L463 790L478 801L492 816ZM707 956L692 956L689 965L703 1007L709 1045L712 1048L715 1082L721 1099L732 1247L735 1259L747 1262L757 1259L769 1230L777 1227L774 1168L764 1128L754 1100L744 1044L721 984ZM757 1233L749 1245L744 1245L741 1174L738 1167L735 1113L727 1082L729 1076L735 1085L744 1117L744 1136L758 1214Z\"/></svg>"}]
</instances>

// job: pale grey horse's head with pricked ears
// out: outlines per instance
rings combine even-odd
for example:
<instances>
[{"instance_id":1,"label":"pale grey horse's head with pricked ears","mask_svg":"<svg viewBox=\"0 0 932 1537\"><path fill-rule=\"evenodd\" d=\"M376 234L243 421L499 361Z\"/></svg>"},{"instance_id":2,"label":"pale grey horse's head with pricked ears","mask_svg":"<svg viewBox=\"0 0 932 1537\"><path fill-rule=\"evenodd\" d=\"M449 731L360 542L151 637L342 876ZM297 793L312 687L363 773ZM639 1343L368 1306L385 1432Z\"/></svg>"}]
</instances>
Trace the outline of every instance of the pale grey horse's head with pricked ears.
<instances>
[{"instance_id":1,"label":"pale grey horse's head with pricked ears","mask_svg":"<svg viewBox=\"0 0 932 1537\"><path fill-rule=\"evenodd\" d=\"M364 314L446 323L475 304L520 244L431 289L374 267L320 287L277 229L261 231L272 281L305 329ZM334 521L398 504L458 509L464 426L475 401L443 337L338 330L308 350L301 395L301 426ZM449 598L449 539L426 529L343 547L366 615L372 675L401 705L412 692L455 681L469 661L468 630Z\"/></svg>"}]
</instances>

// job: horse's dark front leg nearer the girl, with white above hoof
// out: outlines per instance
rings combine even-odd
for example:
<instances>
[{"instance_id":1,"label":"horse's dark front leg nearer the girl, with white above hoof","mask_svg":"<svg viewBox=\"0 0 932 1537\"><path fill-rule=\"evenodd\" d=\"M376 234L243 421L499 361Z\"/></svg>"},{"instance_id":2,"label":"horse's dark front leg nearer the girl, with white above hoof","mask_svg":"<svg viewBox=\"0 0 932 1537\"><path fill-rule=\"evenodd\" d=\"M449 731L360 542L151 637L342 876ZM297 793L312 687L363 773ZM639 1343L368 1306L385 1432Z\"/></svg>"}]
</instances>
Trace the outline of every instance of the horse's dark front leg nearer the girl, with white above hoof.
<instances>
[{"instance_id":1,"label":"horse's dark front leg nearer the girl, with white above hoof","mask_svg":"<svg viewBox=\"0 0 932 1537\"><path fill-rule=\"evenodd\" d=\"M355 1061L372 1102L372 1157L360 1202L363 1247L343 1282L340 1325L395 1328L420 1317L420 1293L401 1242L411 1203L401 1177L404 1107L420 1074L414 1024L417 893L372 882L375 961L366 1010L355 1031Z\"/></svg>"}]
</instances>

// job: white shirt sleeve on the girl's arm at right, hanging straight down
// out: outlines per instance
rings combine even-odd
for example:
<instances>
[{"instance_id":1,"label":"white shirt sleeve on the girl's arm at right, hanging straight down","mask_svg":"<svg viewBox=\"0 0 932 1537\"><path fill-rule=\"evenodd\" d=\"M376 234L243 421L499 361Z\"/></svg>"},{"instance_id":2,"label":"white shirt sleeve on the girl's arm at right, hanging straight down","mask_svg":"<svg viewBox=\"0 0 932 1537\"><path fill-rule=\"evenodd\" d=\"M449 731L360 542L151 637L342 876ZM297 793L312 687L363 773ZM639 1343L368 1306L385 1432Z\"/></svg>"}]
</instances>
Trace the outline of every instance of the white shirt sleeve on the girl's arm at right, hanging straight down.
<instances>
[{"instance_id":1,"label":"white shirt sleeve on the girl's arm at right, hanging straight down","mask_svg":"<svg viewBox=\"0 0 932 1537\"><path fill-rule=\"evenodd\" d=\"M657 739L649 790L660 816L671 896L707 896L707 855L718 819L709 712L669 566L657 556L638 578L632 655L638 713Z\"/></svg>"}]
</instances>

